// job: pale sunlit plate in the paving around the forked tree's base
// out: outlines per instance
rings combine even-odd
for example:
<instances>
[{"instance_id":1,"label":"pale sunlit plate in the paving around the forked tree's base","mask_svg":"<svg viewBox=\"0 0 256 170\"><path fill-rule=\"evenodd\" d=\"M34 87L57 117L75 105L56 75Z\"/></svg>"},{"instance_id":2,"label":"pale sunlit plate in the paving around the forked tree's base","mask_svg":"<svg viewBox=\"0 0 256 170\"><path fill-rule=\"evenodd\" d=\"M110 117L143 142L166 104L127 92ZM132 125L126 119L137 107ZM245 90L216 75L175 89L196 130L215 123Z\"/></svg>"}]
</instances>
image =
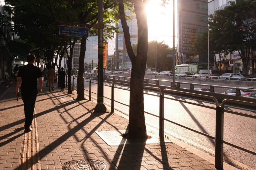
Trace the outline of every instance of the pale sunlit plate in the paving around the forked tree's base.
<instances>
[{"instance_id":1,"label":"pale sunlit plate in the paving around the forked tree's base","mask_svg":"<svg viewBox=\"0 0 256 170\"><path fill-rule=\"evenodd\" d=\"M120 145L120 144L130 144L134 141L127 140L122 137L123 133L126 133L126 130L102 130L95 131L108 145ZM158 135L154 133L148 134L152 136L151 139L147 139L146 143L159 143Z\"/></svg>"}]
</instances>

